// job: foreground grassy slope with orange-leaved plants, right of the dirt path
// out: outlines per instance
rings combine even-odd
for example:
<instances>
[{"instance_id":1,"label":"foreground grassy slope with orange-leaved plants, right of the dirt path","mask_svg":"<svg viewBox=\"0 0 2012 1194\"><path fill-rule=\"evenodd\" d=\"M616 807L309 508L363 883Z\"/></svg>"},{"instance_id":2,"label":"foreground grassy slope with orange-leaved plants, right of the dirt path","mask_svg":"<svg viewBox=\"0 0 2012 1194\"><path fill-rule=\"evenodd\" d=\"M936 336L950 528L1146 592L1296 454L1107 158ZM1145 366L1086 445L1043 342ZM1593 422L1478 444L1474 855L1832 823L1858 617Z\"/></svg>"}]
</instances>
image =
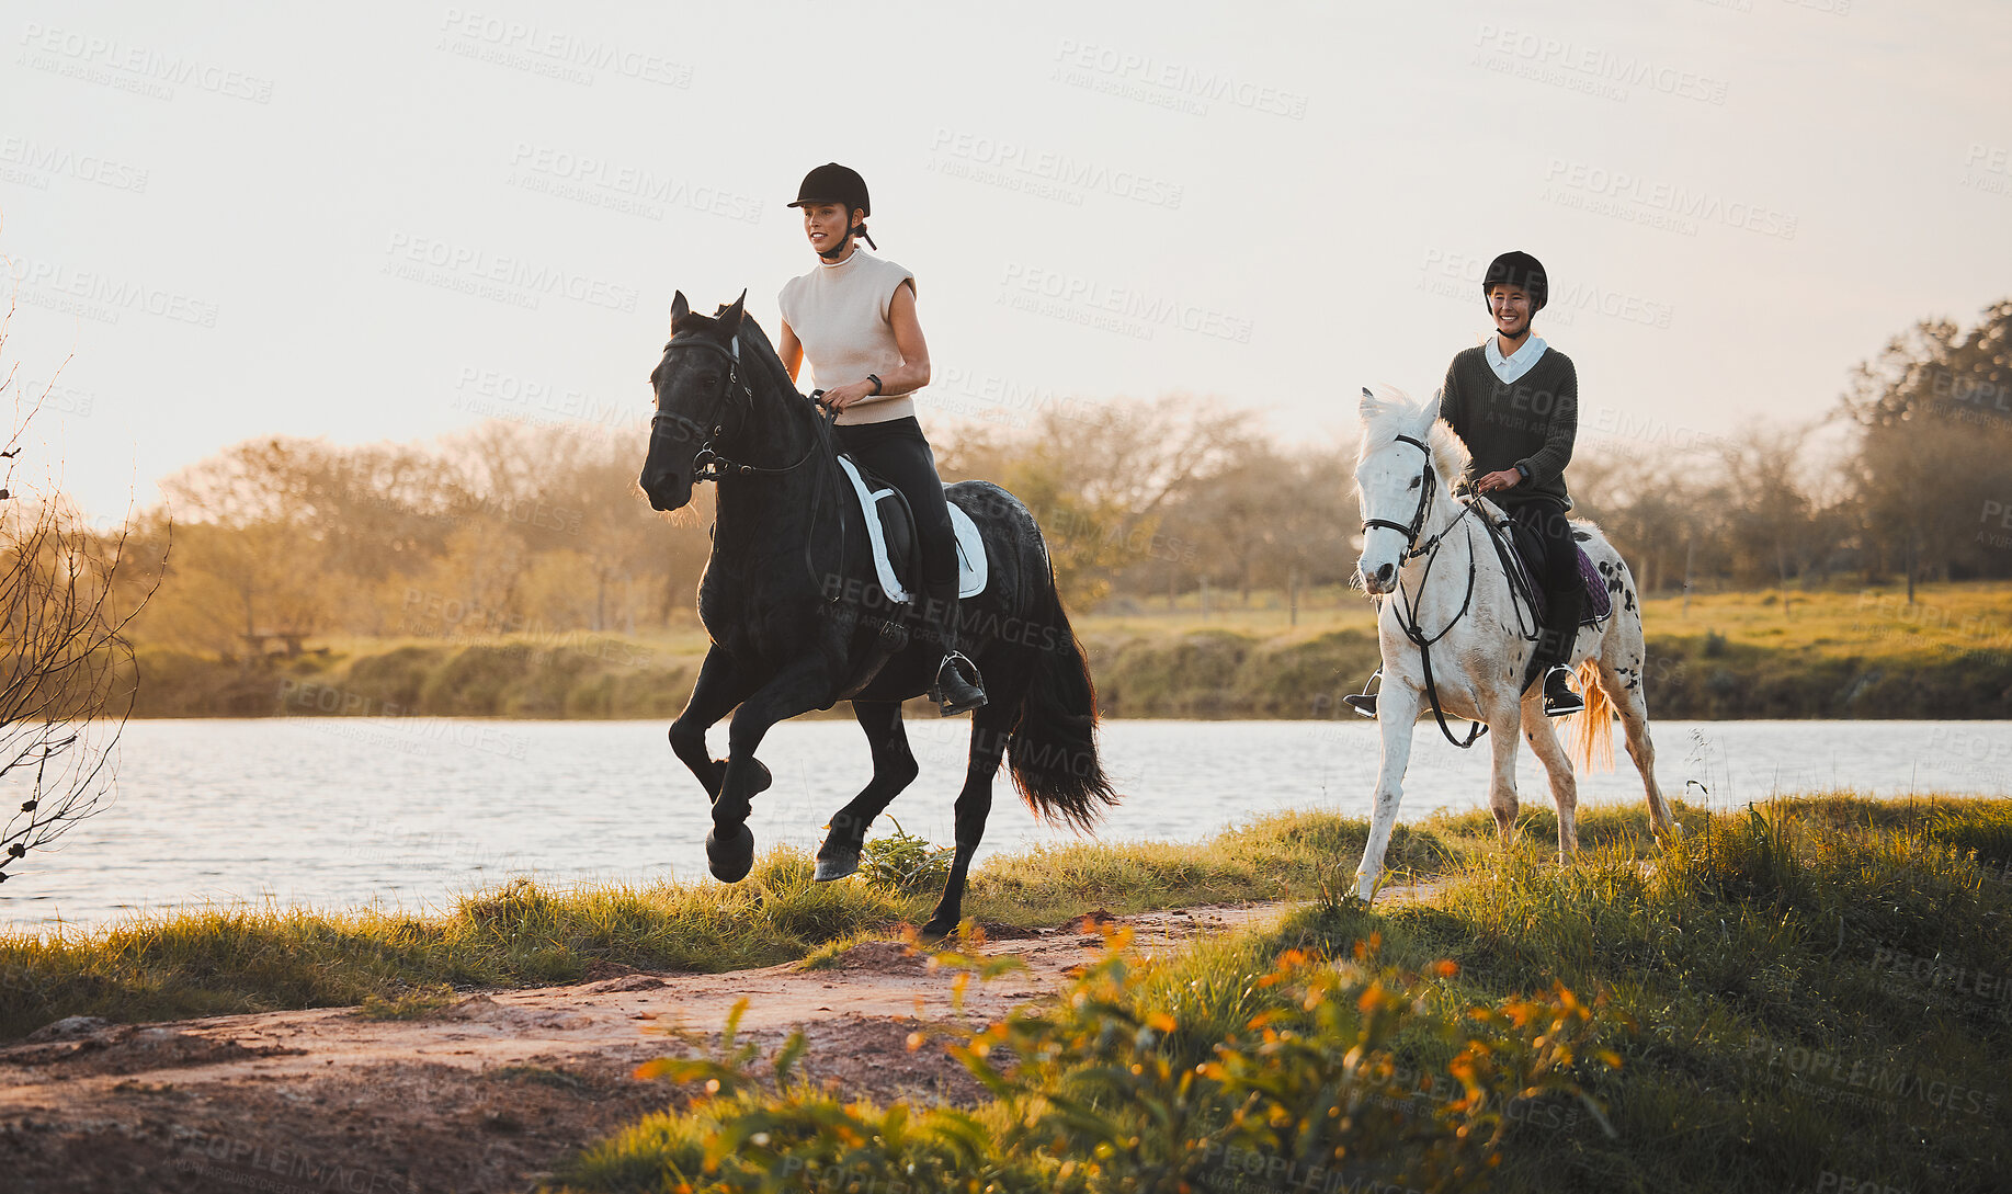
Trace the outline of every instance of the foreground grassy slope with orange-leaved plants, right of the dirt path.
<instances>
[{"instance_id":1,"label":"foreground grassy slope with orange-leaved plants, right of the dirt path","mask_svg":"<svg viewBox=\"0 0 2012 1194\"><path fill-rule=\"evenodd\" d=\"M1427 904L1326 898L1095 968L964 1041L994 1091L972 1111L670 1065L718 1097L682 1087L563 1184L2004 1188L2012 801L1690 813L1648 862L1640 817L1602 813L1563 870L1545 819L1509 856L1471 850L1483 813L1435 822L1449 882Z\"/></svg>"}]
</instances>

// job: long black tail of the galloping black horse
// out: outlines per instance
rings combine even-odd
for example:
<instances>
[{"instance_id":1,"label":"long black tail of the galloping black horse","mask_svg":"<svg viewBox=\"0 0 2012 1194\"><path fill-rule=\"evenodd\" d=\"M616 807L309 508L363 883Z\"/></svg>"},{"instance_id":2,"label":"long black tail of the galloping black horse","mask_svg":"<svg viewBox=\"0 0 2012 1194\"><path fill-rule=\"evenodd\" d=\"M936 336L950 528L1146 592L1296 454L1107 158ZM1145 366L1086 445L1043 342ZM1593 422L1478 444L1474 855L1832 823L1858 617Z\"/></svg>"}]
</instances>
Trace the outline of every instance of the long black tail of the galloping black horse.
<instances>
[{"instance_id":1,"label":"long black tail of the galloping black horse","mask_svg":"<svg viewBox=\"0 0 2012 1194\"><path fill-rule=\"evenodd\" d=\"M1036 817L1091 832L1119 795L1111 791L1097 757L1097 687L1082 642L1062 610L1052 566L1040 604L1046 608L1030 618L1040 628L1034 679L1020 703L1020 721L1006 739L1006 759L1014 787Z\"/></svg>"}]
</instances>

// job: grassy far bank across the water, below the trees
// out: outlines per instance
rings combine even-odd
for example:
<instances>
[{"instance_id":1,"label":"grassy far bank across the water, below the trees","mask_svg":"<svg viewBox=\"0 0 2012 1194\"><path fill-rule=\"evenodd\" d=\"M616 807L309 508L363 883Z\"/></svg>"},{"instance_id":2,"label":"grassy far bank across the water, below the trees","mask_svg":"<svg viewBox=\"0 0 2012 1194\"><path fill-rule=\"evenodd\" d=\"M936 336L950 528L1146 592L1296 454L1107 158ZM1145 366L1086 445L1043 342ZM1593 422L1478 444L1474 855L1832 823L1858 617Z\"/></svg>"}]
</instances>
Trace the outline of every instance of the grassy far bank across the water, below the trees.
<instances>
[{"instance_id":1,"label":"grassy far bank across the water, below the trees","mask_svg":"<svg viewBox=\"0 0 2012 1194\"><path fill-rule=\"evenodd\" d=\"M1201 616L1117 602L1076 620L1111 717L1340 717L1376 668L1370 604L1280 594ZM1656 717L2012 717L2012 586L1769 590L1648 602ZM674 717L704 632L328 640L252 664L139 650L141 717ZM837 711L835 715L843 715Z\"/></svg>"}]
</instances>

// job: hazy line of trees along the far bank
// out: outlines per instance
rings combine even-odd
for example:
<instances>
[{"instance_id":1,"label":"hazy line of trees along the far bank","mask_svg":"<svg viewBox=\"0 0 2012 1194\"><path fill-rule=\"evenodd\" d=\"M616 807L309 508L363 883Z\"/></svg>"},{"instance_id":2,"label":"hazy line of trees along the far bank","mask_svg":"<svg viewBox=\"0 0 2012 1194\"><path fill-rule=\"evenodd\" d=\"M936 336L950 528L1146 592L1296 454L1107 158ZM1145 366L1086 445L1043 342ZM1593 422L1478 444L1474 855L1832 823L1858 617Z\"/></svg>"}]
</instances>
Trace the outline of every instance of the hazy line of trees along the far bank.
<instances>
[{"instance_id":1,"label":"hazy line of trees along the far bank","mask_svg":"<svg viewBox=\"0 0 2012 1194\"><path fill-rule=\"evenodd\" d=\"M1348 403L1350 395L1338 395ZM712 493L636 487L644 425L489 421L433 443L262 437L163 481L123 544L141 642L646 632L694 620ZM1288 445L1219 403L1068 403L936 431L946 479L1014 491L1078 608L1344 586L1354 443ZM1567 473L1648 592L2012 576L2012 300L1923 320L1809 423L1724 437L1581 417ZM155 584L159 590L155 592ZM1346 598L1344 598L1346 600Z\"/></svg>"}]
</instances>

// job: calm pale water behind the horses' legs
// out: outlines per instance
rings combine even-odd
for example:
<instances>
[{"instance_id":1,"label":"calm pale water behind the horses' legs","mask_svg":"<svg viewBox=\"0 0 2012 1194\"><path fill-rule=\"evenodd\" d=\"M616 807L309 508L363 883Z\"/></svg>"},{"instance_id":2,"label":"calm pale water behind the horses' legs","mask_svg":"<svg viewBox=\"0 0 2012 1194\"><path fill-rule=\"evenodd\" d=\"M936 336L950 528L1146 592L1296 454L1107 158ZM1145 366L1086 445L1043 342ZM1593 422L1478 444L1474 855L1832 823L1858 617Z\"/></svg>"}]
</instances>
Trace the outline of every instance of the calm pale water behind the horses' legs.
<instances>
[{"instance_id":1,"label":"calm pale water behind the horses' legs","mask_svg":"<svg viewBox=\"0 0 2012 1194\"><path fill-rule=\"evenodd\" d=\"M1107 767L1129 799L1103 836L1195 840L1274 809L1368 815L1374 729L1105 723ZM1581 803L1642 799L1618 729L1616 769L1581 777ZM700 878L706 799L664 731L658 721L137 721L115 803L10 868L0 928L237 898L437 908L517 874ZM1654 737L1664 791L1712 805L1829 787L2006 795L2012 785L2012 723L1676 721ZM889 809L907 832L952 840L966 739L968 719L909 723L921 777ZM1457 751L1427 723L1416 741L1406 819L1485 805L1487 739ZM759 848L815 850L819 826L869 773L851 721L785 723L761 757L775 787L754 801ZM1549 803L1527 751L1517 777L1525 803ZM1068 840L1036 826L1008 781L994 793L986 852ZM875 832L887 828L883 817Z\"/></svg>"}]
</instances>

